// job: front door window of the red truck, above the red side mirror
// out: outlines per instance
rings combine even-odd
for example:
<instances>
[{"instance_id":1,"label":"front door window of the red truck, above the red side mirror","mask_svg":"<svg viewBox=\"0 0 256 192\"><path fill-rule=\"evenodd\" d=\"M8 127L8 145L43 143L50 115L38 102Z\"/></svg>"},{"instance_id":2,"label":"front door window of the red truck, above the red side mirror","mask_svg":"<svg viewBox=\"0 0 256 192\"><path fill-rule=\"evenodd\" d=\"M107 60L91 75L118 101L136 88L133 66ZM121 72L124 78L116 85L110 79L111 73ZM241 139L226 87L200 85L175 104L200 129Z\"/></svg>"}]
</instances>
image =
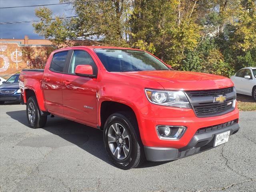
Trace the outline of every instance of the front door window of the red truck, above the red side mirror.
<instances>
[{"instance_id":1,"label":"front door window of the red truck, above the red side mirror","mask_svg":"<svg viewBox=\"0 0 256 192\"><path fill-rule=\"evenodd\" d=\"M93 73L96 74L97 72L96 64L94 63L90 54L88 54L86 51L74 51L68 73L75 74L76 66L78 65L90 65L93 68Z\"/></svg>"}]
</instances>

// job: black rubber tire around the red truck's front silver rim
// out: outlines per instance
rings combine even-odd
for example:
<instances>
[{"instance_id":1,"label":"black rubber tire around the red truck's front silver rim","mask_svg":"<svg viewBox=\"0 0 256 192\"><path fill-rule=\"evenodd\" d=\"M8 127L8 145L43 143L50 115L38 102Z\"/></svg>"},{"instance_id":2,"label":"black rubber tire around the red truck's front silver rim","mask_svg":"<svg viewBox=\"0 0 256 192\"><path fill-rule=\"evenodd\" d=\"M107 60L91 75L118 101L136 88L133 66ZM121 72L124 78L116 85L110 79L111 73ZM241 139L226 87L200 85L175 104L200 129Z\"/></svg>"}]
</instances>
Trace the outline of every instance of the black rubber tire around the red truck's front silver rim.
<instances>
[{"instance_id":1,"label":"black rubber tire around the red truck's front silver rim","mask_svg":"<svg viewBox=\"0 0 256 192\"><path fill-rule=\"evenodd\" d=\"M109 129L111 125L116 123L121 126L120 130L122 129L122 127L125 128L125 130L127 131L126 134L128 135L128 139L129 139L128 140L129 152L128 152L128 155L122 160L114 156L108 144ZM116 139L117 139L117 136L116 136ZM108 157L113 162L113 164L118 168L128 170L128 169L139 166L145 161L144 147L140 139L138 124L136 121L136 117L131 112L124 111L124 112L117 112L110 115L104 124L103 140L104 140L104 147L106 149ZM113 142L113 143L115 145L118 145L117 140L116 142ZM126 145L124 140L123 140L123 144ZM124 150L123 150L123 154L124 154Z\"/></svg>"}]
</instances>

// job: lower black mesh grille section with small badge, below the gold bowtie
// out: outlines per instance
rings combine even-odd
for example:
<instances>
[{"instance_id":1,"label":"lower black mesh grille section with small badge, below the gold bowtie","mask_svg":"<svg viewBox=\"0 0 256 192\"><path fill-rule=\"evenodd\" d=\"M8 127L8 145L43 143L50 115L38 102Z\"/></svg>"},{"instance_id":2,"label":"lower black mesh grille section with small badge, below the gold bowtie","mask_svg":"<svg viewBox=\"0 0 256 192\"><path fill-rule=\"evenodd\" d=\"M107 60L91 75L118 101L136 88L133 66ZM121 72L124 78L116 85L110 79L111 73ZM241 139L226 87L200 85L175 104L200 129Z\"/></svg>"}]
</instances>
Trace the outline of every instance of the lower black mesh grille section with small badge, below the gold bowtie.
<instances>
[{"instance_id":1,"label":"lower black mesh grille section with small badge, below the gold bowtie","mask_svg":"<svg viewBox=\"0 0 256 192\"><path fill-rule=\"evenodd\" d=\"M192 105L192 107L197 116L208 116L208 115L217 114L219 112L223 112L232 108L232 103L233 103L232 100L228 100L223 103L195 104L195 105Z\"/></svg>"}]
</instances>

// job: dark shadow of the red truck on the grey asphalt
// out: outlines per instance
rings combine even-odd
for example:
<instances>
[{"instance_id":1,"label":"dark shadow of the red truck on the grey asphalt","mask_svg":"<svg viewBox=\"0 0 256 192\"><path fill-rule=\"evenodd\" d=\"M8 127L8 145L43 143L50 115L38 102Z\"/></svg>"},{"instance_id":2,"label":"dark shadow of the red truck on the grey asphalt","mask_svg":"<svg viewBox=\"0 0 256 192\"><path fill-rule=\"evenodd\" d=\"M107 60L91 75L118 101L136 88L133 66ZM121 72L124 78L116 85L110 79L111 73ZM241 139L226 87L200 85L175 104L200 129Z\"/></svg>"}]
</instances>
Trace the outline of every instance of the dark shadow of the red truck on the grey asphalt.
<instances>
[{"instance_id":1,"label":"dark shadow of the red truck on the grey asphalt","mask_svg":"<svg viewBox=\"0 0 256 192\"><path fill-rule=\"evenodd\" d=\"M6 112L6 114L10 116L12 119L17 120L21 124L28 127L26 110ZM50 118L50 116L48 116L45 127L41 129L44 129L56 136L59 136L60 138L66 140L67 142L70 142L82 148L83 150L92 154L93 156L96 156L97 158L103 160L104 162L114 166L112 162L109 160L106 154L106 151L104 149L103 136L102 136L101 130L91 128L89 126L85 126L83 124L79 124L70 120L66 120L64 118L57 117L57 116L55 116L54 118ZM46 137L45 136L42 137L42 139L43 140L47 139L47 136L48 135L46 135ZM49 137L50 136L51 134L49 134ZM36 138L36 139L39 139L38 142L41 142L41 144L43 145L46 144L46 147L56 148L55 143L52 144L51 146L51 144L45 141L40 141L40 138ZM60 142L60 146L61 146L61 142ZM145 162L142 166L138 168L153 167L153 166L158 166L165 163L167 162Z\"/></svg>"}]
</instances>

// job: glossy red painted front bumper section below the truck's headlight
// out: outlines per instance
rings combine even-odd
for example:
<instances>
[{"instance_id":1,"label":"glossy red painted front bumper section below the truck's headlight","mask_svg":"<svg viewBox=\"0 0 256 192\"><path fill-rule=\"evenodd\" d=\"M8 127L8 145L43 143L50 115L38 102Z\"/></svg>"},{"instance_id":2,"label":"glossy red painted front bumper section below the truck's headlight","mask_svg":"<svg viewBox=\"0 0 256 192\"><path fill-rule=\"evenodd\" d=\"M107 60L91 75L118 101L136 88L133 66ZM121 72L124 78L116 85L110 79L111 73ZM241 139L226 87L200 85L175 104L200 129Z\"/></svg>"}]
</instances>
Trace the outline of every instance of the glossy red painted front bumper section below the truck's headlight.
<instances>
[{"instance_id":1,"label":"glossy red painted front bumper section below the truck's headlight","mask_svg":"<svg viewBox=\"0 0 256 192\"><path fill-rule=\"evenodd\" d=\"M214 117L198 118L192 109L150 105L140 110L137 116L140 137L144 146L162 148L183 148L188 145L200 128L214 126L239 118L237 107L229 113ZM178 140L160 139L156 126L184 126L186 131Z\"/></svg>"}]
</instances>

